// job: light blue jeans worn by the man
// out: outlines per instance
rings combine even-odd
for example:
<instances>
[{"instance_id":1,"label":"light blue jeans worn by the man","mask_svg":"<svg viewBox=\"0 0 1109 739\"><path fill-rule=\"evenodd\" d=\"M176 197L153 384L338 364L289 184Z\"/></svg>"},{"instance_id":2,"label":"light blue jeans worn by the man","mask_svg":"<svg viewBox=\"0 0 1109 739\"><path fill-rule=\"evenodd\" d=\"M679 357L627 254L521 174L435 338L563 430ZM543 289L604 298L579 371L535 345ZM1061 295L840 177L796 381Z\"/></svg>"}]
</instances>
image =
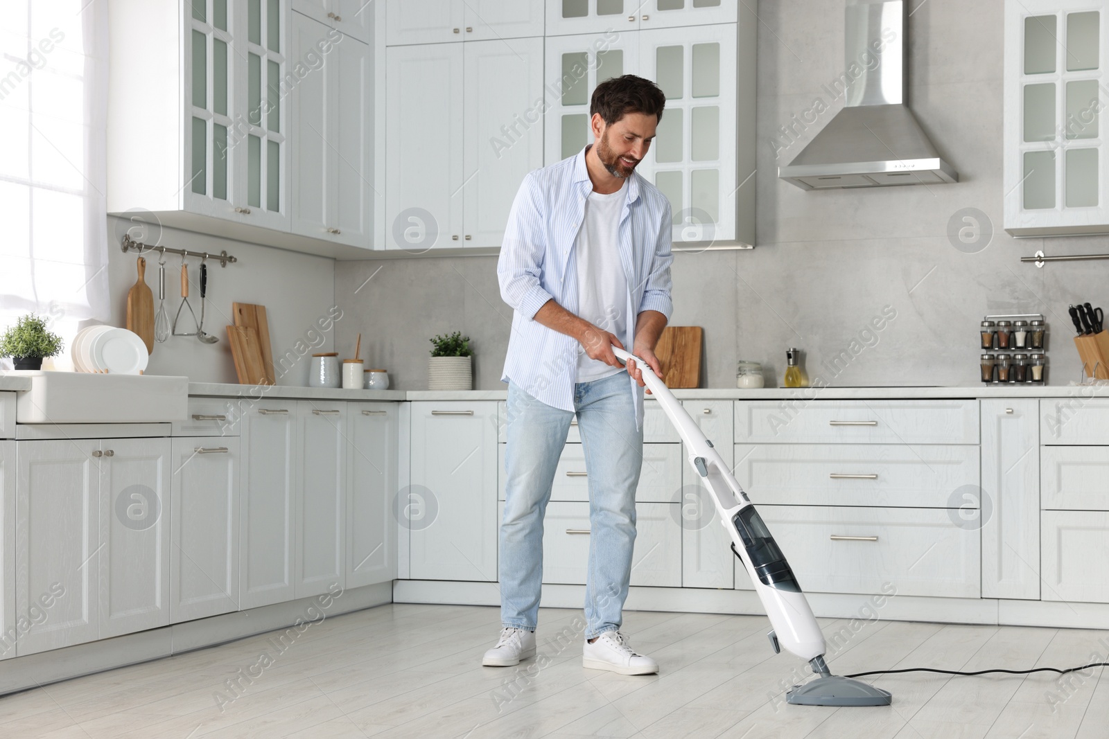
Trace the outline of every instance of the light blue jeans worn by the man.
<instances>
[{"instance_id":1,"label":"light blue jeans worn by the man","mask_svg":"<svg viewBox=\"0 0 1109 739\"><path fill-rule=\"evenodd\" d=\"M643 430L635 428L627 372L573 390L589 479L586 638L619 629L635 543L635 487ZM543 514L574 413L508 386L505 515L500 524L500 618L535 630L543 566Z\"/></svg>"}]
</instances>

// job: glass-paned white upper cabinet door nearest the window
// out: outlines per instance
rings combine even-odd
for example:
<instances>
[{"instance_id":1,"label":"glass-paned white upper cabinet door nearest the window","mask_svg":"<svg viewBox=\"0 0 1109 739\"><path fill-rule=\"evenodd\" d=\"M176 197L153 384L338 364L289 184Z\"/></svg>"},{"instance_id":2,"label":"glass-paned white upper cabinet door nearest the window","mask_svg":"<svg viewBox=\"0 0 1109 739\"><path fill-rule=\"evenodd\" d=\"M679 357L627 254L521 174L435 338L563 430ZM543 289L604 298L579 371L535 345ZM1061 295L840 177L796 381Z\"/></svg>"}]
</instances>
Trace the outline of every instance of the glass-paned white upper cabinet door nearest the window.
<instances>
[{"instance_id":1,"label":"glass-paned white upper cabinet door nearest the window","mask_svg":"<svg viewBox=\"0 0 1109 739\"><path fill-rule=\"evenodd\" d=\"M232 0L185 3L189 41L184 74L185 166L183 207L192 213L235 217L231 203L234 168L230 166L232 100L238 62L232 52L241 31L228 8Z\"/></svg>"}]
</instances>

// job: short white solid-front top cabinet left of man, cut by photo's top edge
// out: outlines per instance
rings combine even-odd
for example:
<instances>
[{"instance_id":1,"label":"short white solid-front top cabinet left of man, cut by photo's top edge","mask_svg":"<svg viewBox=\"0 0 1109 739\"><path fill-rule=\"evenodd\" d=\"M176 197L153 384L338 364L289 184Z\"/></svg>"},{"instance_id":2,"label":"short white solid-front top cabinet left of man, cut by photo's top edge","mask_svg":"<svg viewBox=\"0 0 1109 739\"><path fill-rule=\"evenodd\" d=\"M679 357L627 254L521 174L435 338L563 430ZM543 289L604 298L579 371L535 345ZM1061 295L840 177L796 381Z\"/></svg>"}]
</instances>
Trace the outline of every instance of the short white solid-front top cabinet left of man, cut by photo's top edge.
<instances>
[{"instance_id":1,"label":"short white solid-front top cabinet left of man, cut by photo's top edge","mask_svg":"<svg viewBox=\"0 0 1109 739\"><path fill-rule=\"evenodd\" d=\"M385 12L390 47L543 34L543 0L389 0Z\"/></svg>"}]
</instances>

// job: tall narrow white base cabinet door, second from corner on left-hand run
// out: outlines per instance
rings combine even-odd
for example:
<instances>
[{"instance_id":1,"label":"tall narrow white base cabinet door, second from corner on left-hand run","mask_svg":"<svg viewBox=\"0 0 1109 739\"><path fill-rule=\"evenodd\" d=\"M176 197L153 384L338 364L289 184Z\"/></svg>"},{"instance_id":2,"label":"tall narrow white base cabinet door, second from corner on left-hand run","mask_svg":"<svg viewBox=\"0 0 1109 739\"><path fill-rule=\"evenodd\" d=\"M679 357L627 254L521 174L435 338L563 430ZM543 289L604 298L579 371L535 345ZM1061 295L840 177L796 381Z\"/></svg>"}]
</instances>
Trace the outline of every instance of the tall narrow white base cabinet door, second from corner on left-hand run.
<instances>
[{"instance_id":1,"label":"tall narrow white base cabinet door, second from corner on left-hand run","mask_svg":"<svg viewBox=\"0 0 1109 739\"><path fill-rule=\"evenodd\" d=\"M294 595L345 587L347 404L297 401L296 568ZM332 591L334 592L334 591Z\"/></svg>"}]
</instances>

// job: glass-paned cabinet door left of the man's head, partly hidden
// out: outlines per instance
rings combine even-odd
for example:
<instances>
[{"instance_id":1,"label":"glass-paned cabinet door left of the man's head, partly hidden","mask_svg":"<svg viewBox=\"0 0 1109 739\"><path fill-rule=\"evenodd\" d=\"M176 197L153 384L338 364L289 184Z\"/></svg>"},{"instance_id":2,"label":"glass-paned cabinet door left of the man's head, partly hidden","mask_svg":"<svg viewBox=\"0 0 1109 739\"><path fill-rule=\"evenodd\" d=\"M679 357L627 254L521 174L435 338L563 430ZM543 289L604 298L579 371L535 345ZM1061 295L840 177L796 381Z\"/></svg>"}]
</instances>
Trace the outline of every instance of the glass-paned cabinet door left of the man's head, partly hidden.
<instances>
[{"instance_id":1,"label":"glass-paned cabinet door left of the man's head, partly hidden","mask_svg":"<svg viewBox=\"0 0 1109 739\"><path fill-rule=\"evenodd\" d=\"M593 143L589 127L593 89L610 78L641 73L639 35L610 32L547 38L546 164L572 156Z\"/></svg>"}]
</instances>

